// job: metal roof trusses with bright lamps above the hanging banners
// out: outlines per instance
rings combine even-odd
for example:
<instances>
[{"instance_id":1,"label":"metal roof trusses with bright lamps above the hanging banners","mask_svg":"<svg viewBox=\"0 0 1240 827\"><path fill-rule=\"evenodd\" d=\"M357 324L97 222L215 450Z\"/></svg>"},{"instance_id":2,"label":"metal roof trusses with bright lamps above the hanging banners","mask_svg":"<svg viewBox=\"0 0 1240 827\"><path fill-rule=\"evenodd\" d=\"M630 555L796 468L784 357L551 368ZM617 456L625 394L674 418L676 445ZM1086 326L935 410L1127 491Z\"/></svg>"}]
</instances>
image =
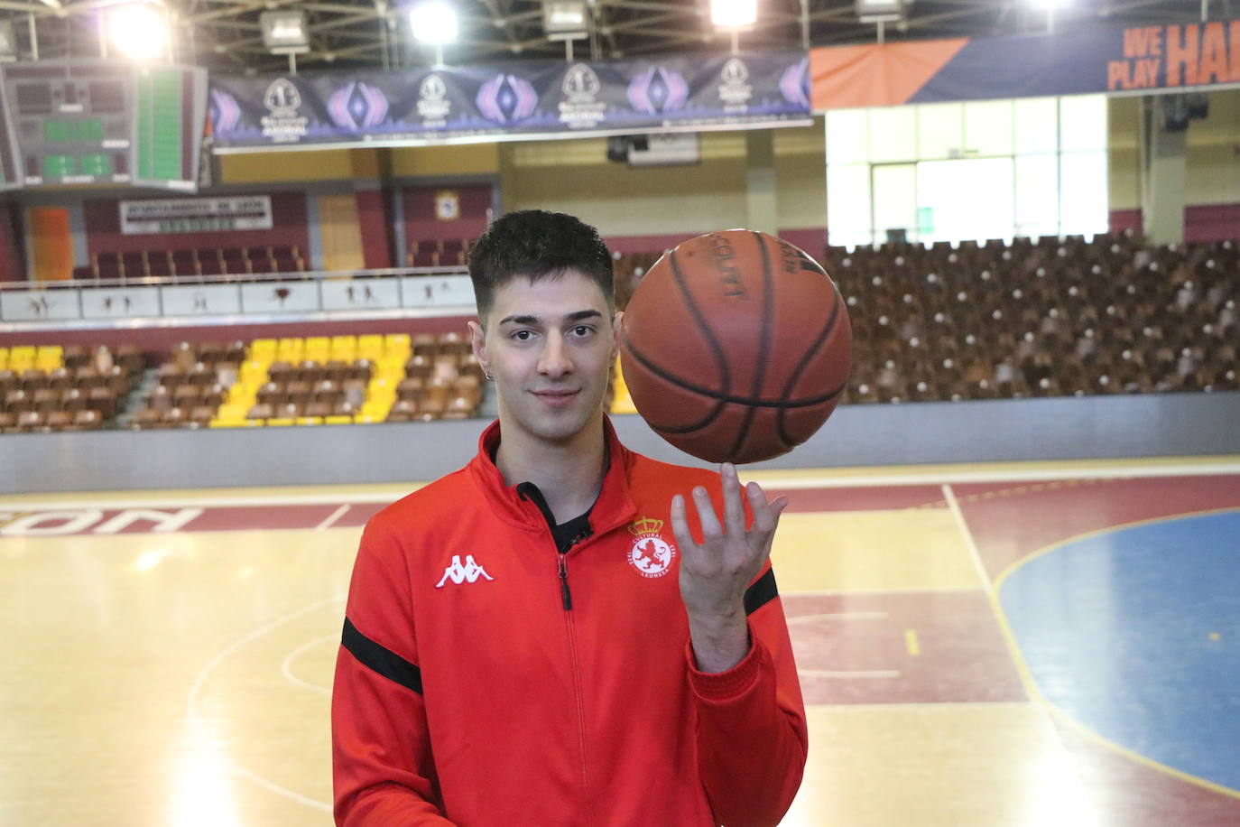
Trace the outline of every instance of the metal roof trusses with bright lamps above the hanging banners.
<instances>
[{"instance_id":1,"label":"metal roof trusses with bright lamps above the hanging banners","mask_svg":"<svg viewBox=\"0 0 1240 827\"><path fill-rule=\"evenodd\" d=\"M22 60L98 57L102 15L124 0L0 0ZM451 0L460 38L444 50L448 64L565 60L562 41L543 31L538 0ZM739 33L742 50L977 37L1125 26L1164 26L1230 19L1240 0L1065 0L1048 12L1034 0L913 0L904 20L863 24L854 0L760 0L758 24ZM413 40L403 0L162 0L175 31L172 58L213 72L274 73L289 58L264 46L259 15L303 9L311 48L299 71L429 66L435 52ZM708 0L591 0L588 40L577 60L609 61L732 48L732 35L711 25Z\"/></svg>"}]
</instances>

